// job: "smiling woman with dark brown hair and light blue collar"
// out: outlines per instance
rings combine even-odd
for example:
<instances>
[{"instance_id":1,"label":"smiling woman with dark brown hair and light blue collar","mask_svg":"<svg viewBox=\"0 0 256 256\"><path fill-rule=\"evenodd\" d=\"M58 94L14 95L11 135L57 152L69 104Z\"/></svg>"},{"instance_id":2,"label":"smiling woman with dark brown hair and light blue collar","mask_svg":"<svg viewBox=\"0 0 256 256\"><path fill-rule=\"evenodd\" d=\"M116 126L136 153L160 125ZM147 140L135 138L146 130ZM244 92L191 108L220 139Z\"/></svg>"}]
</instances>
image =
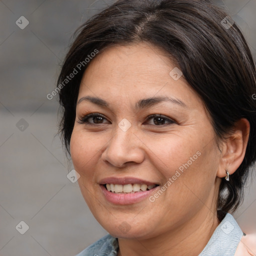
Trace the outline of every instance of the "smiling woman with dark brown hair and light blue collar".
<instances>
[{"instance_id":1,"label":"smiling woman with dark brown hair and light blue collar","mask_svg":"<svg viewBox=\"0 0 256 256\"><path fill-rule=\"evenodd\" d=\"M109 235L82 255L253 255L232 213L255 162L255 65L208 0L119 0L80 27L60 130Z\"/></svg>"}]
</instances>

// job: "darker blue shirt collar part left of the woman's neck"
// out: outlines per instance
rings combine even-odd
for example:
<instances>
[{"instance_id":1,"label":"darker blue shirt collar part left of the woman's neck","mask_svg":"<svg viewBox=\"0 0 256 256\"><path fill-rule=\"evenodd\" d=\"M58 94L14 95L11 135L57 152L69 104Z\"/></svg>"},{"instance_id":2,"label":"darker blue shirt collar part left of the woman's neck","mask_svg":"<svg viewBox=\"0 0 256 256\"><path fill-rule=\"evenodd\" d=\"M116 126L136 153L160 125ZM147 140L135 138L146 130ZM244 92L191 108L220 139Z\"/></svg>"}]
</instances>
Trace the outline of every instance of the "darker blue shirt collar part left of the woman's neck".
<instances>
[{"instance_id":1,"label":"darker blue shirt collar part left of the woman's neck","mask_svg":"<svg viewBox=\"0 0 256 256\"><path fill-rule=\"evenodd\" d=\"M110 234L107 234L92 243L76 256L101 256L101 255L116 255L115 251L118 248L117 238L114 238Z\"/></svg>"}]
</instances>

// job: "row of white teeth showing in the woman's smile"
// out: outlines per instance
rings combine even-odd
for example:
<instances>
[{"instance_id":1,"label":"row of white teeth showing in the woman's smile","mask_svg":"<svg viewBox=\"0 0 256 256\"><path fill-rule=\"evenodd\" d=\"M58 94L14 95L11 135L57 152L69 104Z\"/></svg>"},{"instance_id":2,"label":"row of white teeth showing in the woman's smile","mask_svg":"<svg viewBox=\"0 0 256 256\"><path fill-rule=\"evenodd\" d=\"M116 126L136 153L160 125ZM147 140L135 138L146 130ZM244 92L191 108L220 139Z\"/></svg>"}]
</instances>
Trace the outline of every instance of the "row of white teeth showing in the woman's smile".
<instances>
[{"instance_id":1,"label":"row of white teeth showing in the woman's smile","mask_svg":"<svg viewBox=\"0 0 256 256\"><path fill-rule=\"evenodd\" d=\"M146 185L146 184L109 184L106 183L104 184L104 187L107 189L107 191L112 192L112 193L136 193L136 192L143 192L146 190L150 190L158 185L153 184L153 185Z\"/></svg>"}]
</instances>

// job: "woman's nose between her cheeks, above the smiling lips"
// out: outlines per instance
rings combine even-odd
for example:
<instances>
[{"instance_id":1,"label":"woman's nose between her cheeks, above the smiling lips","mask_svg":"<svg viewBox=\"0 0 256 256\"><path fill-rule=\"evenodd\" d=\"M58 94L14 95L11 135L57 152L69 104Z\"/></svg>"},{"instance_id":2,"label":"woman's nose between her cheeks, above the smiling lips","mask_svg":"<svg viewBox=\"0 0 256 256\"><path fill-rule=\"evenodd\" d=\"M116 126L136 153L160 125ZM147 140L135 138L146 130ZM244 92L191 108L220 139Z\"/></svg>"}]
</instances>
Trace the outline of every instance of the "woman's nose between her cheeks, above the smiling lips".
<instances>
[{"instance_id":1,"label":"woman's nose between her cheeks, above the smiling lips","mask_svg":"<svg viewBox=\"0 0 256 256\"><path fill-rule=\"evenodd\" d=\"M144 160L144 143L132 130L132 126L126 131L116 128L101 155L103 161L122 168L128 163L141 163Z\"/></svg>"}]
</instances>

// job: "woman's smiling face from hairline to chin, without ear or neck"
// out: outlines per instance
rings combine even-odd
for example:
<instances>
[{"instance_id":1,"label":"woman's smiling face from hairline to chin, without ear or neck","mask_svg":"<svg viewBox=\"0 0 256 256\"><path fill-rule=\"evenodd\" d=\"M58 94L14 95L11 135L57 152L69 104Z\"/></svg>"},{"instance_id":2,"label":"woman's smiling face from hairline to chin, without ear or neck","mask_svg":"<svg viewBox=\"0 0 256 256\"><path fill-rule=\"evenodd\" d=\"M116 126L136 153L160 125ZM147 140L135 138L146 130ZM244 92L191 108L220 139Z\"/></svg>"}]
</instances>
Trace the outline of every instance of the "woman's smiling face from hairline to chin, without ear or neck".
<instances>
[{"instance_id":1,"label":"woman's smiling face from hairline to chin, without ear or neck","mask_svg":"<svg viewBox=\"0 0 256 256\"><path fill-rule=\"evenodd\" d=\"M71 158L86 203L113 236L150 238L215 213L213 127L173 68L139 43L105 49L83 74Z\"/></svg>"}]
</instances>

